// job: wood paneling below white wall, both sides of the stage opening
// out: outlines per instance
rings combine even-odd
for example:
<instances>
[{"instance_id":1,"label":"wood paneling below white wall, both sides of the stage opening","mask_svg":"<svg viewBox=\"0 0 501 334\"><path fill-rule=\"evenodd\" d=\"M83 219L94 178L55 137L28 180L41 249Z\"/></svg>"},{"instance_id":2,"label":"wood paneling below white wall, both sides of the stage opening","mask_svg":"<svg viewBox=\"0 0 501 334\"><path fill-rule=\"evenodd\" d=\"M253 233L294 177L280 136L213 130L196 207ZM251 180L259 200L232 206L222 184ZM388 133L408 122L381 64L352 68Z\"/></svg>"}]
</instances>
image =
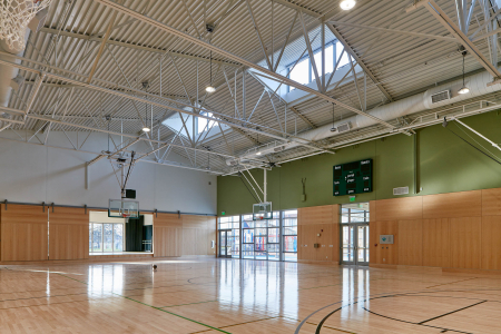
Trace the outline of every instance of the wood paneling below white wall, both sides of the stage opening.
<instances>
[{"instance_id":1,"label":"wood paneling below white wall, both sides of the stage opening","mask_svg":"<svg viewBox=\"0 0 501 334\"><path fill-rule=\"evenodd\" d=\"M216 255L216 217L154 216L156 257ZM0 258L47 261L89 258L89 215L84 208L4 205L0 209Z\"/></svg>"}]
</instances>

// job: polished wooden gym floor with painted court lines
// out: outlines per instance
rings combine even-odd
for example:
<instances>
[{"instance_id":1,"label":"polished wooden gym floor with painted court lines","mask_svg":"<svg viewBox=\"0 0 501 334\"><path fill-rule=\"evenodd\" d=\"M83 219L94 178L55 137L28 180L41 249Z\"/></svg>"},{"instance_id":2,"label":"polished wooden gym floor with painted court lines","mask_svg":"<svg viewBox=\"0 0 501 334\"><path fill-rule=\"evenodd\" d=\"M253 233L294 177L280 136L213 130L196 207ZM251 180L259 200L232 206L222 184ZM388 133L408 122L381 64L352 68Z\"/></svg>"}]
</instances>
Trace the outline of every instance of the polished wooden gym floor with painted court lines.
<instances>
[{"instance_id":1,"label":"polished wooden gym floor with painted court lines","mask_svg":"<svg viewBox=\"0 0 501 334\"><path fill-rule=\"evenodd\" d=\"M501 333L501 276L215 258L2 265L0 333Z\"/></svg>"}]
</instances>

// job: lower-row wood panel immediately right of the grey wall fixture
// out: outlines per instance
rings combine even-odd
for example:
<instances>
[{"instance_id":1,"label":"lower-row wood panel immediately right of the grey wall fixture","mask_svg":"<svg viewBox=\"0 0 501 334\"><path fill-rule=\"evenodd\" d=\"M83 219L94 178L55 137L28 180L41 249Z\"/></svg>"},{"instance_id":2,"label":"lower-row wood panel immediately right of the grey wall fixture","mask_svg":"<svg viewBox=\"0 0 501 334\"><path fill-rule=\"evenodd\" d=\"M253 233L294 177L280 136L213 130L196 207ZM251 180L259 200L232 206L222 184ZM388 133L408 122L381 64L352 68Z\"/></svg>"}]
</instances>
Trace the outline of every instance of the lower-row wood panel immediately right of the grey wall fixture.
<instances>
[{"instance_id":1,"label":"lower-row wood panel immediately right of the grey wall fixture","mask_svg":"<svg viewBox=\"0 0 501 334\"><path fill-rule=\"evenodd\" d=\"M423 220L399 220L399 264L423 265Z\"/></svg>"}]
</instances>

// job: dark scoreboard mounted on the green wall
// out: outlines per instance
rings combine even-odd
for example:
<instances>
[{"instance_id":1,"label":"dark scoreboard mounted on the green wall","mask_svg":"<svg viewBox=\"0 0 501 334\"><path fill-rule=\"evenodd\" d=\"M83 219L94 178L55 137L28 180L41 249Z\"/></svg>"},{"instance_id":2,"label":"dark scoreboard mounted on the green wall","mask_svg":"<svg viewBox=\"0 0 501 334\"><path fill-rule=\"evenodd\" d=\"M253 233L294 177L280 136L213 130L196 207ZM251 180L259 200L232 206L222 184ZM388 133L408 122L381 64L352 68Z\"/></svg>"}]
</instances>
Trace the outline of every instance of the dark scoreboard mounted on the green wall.
<instances>
[{"instance_id":1,"label":"dark scoreboard mounted on the green wall","mask_svg":"<svg viewBox=\"0 0 501 334\"><path fill-rule=\"evenodd\" d=\"M372 191L372 159L334 166L334 196Z\"/></svg>"}]
</instances>

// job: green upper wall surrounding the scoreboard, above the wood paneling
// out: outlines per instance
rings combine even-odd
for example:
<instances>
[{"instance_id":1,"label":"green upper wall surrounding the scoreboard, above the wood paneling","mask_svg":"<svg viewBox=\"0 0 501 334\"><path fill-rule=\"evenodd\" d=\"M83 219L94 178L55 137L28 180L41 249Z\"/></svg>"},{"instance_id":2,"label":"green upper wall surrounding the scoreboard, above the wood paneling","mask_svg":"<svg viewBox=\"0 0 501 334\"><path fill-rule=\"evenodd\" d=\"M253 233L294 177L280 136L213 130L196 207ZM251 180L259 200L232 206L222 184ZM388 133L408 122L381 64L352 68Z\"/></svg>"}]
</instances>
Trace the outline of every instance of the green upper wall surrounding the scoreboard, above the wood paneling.
<instances>
[{"instance_id":1,"label":"green upper wall surrounding the scoreboard, above the wood paneling","mask_svg":"<svg viewBox=\"0 0 501 334\"><path fill-rule=\"evenodd\" d=\"M491 111L461 120L494 143L501 143L500 114ZM501 165L450 130L470 143L475 144L477 140L498 157L501 157L501 151L461 127L466 131L463 132L458 126L450 121L448 128L436 125L419 129L414 136L390 136L340 149L335 155L322 154L283 164L267 174L267 199L273 203L274 210L348 203L350 196L333 196L333 166L367 158L374 160L373 191L357 194L355 202L501 187ZM253 169L250 173L263 186L263 170ZM302 178L306 178L305 202L302 202ZM393 195L393 188L406 186L409 195ZM252 213L255 202L238 177L218 177L219 215L222 212L226 215Z\"/></svg>"}]
</instances>

